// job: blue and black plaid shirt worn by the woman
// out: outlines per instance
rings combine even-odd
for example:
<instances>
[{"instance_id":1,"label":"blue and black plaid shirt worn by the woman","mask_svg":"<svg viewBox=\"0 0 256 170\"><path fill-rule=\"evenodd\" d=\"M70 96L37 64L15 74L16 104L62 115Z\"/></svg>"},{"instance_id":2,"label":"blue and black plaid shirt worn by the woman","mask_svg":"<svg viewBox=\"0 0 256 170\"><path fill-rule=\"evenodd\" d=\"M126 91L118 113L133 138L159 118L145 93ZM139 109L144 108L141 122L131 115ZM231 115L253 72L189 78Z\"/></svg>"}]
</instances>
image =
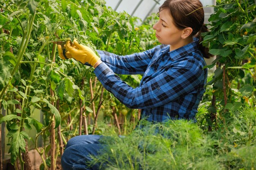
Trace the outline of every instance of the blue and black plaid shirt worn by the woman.
<instances>
[{"instance_id":1,"label":"blue and black plaid shirt worn by the woman","mask_svg":"<svg viewBox=\"0 0 256 170\"><path fill-rule=\"evenodd\" d=\"M205 92L207 68L198 49L198 39L170 52L169 45L119 56L97 51L103 63L94 73L106 90L129 108L141 108L148 121L192 119ZM132 88L116 74L143 74Z\"/></svg>"}]
</instances>

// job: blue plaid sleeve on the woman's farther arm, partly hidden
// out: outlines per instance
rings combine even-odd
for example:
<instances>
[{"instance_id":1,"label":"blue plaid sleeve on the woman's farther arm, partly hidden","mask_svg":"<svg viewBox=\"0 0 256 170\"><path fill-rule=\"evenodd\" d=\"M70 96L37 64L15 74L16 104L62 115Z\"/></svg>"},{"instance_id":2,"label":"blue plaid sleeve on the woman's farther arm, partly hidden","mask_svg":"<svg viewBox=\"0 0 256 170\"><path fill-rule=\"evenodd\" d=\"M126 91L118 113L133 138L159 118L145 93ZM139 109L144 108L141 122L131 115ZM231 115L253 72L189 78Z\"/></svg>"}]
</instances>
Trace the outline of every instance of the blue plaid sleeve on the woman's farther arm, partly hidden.
<instances>
[{"instance_id":1,"label":"blue plaid sleeve on the woman's farther arm, partly hidden","mask_svg":"<svg viewBox=\"0 0 256 170\"><path fill-rule=\"evenodd\" d=\"M131 55L116 55L107 51L97 50L101 61L106 63L116 74L135 75L143 74L146 71L148 63L152 59L155 48Z\"/></svg>"}]
</instances>

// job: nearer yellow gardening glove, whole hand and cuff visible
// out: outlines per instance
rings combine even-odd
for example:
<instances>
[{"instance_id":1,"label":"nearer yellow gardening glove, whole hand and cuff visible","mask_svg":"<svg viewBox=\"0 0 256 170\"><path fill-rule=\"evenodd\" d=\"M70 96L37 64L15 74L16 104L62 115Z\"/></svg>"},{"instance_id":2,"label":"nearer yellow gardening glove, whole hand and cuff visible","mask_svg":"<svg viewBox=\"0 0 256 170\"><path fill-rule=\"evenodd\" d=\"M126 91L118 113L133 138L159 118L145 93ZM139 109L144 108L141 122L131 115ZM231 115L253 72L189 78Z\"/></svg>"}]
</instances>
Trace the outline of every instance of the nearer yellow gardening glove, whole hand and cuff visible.
<instances>
[{"instance_id":1,"label":"nearer yellow gardening glove, whole hand and cuff visible","mask_svg":"<svg viewBox=\"0 0 256 170\"><path fill-rule=\"evenodd\" d=\"M75 60L83 64L89 63L94 66L100 60L92 49L88 46L79 44L76 40L73 41L73 44L71 41L67 41L65 49L70 52Z\"/></svg>"}]
</instances>

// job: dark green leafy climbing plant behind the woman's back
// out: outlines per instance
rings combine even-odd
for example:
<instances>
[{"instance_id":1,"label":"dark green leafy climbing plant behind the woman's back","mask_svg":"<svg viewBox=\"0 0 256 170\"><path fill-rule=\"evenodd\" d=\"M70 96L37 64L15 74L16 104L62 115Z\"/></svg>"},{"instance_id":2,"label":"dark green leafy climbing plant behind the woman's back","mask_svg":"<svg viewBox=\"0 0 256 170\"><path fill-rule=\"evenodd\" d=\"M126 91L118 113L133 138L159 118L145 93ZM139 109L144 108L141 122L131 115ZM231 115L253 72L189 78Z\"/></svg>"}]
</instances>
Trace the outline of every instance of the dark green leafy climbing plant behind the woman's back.
<instances>
[{"instance_id":1,"label":"dark green leafy climbing plant behind the woman's back","mask_svg":"<svg viewBox=\"0 0 256 170\"><path fill-rule=\"evenodd\" d=\"M207 83L213 84L207 115L210 126L216 123L217 114L225 123L225 119L241 106L255 107L255 7L254 0L217 0L215 13L209 18L210 32L204 33L203 44L217 56L208 66L216 66L213 78ZM250 81L245 84L247 75Z\"/></svg>"}]
</instances>

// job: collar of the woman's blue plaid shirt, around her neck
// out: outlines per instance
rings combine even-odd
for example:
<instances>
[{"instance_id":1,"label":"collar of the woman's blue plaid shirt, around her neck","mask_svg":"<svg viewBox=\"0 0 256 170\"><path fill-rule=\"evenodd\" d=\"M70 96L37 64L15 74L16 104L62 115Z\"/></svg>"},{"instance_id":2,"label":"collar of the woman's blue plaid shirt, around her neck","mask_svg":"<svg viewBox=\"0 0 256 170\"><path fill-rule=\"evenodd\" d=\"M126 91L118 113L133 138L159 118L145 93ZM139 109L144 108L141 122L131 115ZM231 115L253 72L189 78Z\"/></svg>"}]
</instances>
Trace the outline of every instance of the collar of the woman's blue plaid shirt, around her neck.
<instances>
[{"instance_id":1,"label":"collar of the woman's blue plaid shirt, around her neck","mask_svg":"<svg viewBox=\"0 0 256 170\"><path fill-rule=\"evenodd\" d=\"M186 44L185 46L182 46L176 50L170 51L170 45L166 46L166 48L163 48L161 50L162 53L168 53L171 57L171 60L177 60L184 55L187 55L189 53L192 53L193 51L196 51L198 49L198 43L199 39L198 38L193 38L193 42Z\"/></svg>"}]
</instances>

